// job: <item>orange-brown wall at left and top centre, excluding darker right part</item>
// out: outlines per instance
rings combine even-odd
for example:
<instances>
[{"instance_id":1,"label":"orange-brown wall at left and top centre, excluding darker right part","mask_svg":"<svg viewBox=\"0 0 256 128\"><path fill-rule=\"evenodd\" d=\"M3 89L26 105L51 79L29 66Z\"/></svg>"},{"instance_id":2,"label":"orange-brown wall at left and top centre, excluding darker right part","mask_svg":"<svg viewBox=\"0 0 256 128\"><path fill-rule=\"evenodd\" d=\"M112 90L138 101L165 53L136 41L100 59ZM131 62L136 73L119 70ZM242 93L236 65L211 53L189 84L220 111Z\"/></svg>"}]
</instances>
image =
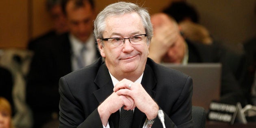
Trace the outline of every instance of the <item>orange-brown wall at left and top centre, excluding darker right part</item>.
<instances>
[{"instance_id":1,"label":"orange-brown wall at left and top centre, excluding darker right part","mask_svg":"<svg viewBox=\"0 0 256 128\"><path fill-rule=\"evenodd\" d=\"M95 0L96 10L119 0ZM130 0L149 8L150 13L161 10L169 1ZM45 0L0 0L0 48L26 48L33 39L50 30L51 21L45 9Z\"/></svg>"}]
</instances>

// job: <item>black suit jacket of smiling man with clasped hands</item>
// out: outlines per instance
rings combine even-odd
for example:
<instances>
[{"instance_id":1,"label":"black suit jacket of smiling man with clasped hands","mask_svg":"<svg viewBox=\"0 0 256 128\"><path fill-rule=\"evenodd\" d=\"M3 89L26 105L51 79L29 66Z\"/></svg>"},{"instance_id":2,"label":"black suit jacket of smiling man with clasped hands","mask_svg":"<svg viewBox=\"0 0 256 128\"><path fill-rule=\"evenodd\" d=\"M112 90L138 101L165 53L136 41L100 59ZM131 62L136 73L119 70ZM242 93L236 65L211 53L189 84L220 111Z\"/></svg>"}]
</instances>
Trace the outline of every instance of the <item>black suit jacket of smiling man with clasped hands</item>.
<instances>
[{"instance_id":1,"label":"black suit jacket of smiling man with clasped hands","mask_svg":"<svg viewBox=\"0 0 256 128\"><path fill-rule=\"evenodd\" d=\"M165 112L166 128L193 127L192 79L148 59L141 81L144 89ZM60 128L102 128L97 107L113 93L113 82L105 63L98 59L60 79ZM135 108L132 128L142 128L146 116ZM118 128L119 111L108 119L111 128ZM152 128L161 128L158 118Z\"/></svg>"}]
</instances>

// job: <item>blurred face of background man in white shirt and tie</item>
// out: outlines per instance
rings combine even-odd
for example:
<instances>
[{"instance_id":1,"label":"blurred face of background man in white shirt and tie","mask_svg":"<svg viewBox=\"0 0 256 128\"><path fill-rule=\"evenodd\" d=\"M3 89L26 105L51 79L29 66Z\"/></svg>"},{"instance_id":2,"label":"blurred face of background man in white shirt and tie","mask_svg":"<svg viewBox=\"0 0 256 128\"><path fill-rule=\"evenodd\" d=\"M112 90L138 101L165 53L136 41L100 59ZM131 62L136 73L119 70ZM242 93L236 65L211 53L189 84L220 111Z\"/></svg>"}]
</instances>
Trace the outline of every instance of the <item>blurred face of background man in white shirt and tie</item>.
<instances>
[{"instance_id":1,"label":"blurred face of background man in white shirt and tie","mask_svg":"<svg viewBox=\"0 0 256 128\"><path fill-rule=\"evenodd\" d=\"M74 1L69 1L66 7L67 24L69 32L80 41L87 41L92 33L94 11L89 2L85 2L84 7L76 8Z\"/></svg>"}]
</instances>

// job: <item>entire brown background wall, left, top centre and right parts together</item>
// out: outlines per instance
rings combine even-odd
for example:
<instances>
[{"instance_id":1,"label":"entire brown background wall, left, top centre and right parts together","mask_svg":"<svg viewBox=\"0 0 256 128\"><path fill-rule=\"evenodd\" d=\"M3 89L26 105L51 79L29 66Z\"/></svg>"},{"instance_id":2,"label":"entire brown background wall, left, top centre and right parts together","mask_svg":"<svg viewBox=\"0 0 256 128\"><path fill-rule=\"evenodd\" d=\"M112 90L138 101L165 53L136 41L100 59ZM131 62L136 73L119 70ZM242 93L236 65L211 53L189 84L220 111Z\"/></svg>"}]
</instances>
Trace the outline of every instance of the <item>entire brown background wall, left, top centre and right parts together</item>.
<instances>
[{"instance_id":1,"label":"entire brown background wall, left, top centre and right parts together","mask_svg":"<svg viewBox=\"0 0 256 128\"><path fill-rule=\"evenodd\" d=\"M95 0L96 10L120 0ZM125 0L160 12L172 0ZM200 13L200 22L216 39L240 43L256 35L253 8L256 0L187 0ZM50 30L45 0L0 0L0 48L26 48L29 39Z\"/></svg>"}]
</instances>

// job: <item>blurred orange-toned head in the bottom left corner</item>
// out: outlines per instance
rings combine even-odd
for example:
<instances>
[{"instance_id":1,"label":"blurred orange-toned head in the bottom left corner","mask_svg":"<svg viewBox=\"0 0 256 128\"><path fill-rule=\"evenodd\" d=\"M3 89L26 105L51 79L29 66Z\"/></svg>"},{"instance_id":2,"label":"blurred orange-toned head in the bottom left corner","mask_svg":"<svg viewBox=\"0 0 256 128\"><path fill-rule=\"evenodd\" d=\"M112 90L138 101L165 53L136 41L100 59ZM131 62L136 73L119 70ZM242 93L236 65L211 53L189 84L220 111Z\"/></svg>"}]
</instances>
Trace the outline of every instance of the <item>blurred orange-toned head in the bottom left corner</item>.
<instances>
[{"instance_id":1,"label":"blurred orange-toned head in the bottom left corner","mask_svg":"<svg viewBox=\"0 0 256 128\"><path fill-rule=\"evenodd\" d=\"M0 97L0 128L12 128L11 113L11 104Z\"/></svg>"}]
</instances>

